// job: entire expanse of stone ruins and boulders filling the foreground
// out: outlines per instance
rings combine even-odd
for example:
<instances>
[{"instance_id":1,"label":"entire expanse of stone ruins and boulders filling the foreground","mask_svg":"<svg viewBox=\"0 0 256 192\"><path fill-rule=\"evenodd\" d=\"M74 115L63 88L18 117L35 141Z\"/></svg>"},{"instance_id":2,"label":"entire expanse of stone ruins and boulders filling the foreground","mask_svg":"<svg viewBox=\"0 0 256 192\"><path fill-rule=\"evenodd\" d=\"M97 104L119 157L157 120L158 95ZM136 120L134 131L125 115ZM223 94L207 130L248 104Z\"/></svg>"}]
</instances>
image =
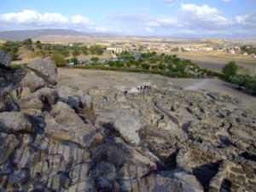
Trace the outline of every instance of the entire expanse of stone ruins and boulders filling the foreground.
<instances>
[{"instance_id":1,"label":"entire expanse of stone ruins and boulders filling the foreground","mask_svg":"<svg viewBox=\"0 0 256 192\"><path fill-rule=\"evenodd\" d=\"M0 69L0 191L256 191L256 114L238 99L57 81L49 60Z\"/></svg>"}]
</instances>

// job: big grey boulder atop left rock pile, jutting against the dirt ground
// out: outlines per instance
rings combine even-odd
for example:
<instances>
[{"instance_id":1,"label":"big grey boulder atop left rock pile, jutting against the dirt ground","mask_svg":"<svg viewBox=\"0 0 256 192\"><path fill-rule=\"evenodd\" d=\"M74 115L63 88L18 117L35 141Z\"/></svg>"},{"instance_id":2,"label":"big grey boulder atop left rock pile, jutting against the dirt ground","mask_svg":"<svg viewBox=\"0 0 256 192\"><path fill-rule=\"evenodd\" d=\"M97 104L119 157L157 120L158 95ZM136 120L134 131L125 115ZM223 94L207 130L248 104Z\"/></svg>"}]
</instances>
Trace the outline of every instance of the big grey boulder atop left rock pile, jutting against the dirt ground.
<instances>
[{"instance_id":1,"label":"big grey boulder atop left rock pile, jutting against the dirt ground","mask_svg":"<svg viewBox=\"0 0 256 192\"><path fill-rule=\"evenodd\" d=\"M57 68L54 61L49 59L36 60L32 61L27 67L49 84L56 84L58 81Z\"/></svg>"}]
</instances>

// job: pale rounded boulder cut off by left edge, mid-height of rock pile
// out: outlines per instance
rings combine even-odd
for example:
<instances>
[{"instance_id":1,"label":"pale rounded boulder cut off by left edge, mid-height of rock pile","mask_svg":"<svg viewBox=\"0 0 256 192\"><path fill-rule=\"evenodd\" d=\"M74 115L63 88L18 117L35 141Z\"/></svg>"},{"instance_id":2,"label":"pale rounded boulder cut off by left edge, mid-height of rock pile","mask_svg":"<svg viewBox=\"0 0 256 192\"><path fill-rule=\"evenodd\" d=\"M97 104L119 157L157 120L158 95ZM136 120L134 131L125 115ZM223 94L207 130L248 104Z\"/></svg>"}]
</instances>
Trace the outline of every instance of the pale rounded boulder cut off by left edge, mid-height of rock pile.
<instances>
[{"instance_id":1,"label":"pale rounded boulder cut off by left edge, mid-height of rock pile","mask_svg":"<svg viewBox=\"0 0 256 192\"><path fill-rule=\"evenodd\" d=\"M34 133L31 122L26 114L21 112L3 112L0 113L0 131L7 133Z\"/></svg>"}]
</instances>

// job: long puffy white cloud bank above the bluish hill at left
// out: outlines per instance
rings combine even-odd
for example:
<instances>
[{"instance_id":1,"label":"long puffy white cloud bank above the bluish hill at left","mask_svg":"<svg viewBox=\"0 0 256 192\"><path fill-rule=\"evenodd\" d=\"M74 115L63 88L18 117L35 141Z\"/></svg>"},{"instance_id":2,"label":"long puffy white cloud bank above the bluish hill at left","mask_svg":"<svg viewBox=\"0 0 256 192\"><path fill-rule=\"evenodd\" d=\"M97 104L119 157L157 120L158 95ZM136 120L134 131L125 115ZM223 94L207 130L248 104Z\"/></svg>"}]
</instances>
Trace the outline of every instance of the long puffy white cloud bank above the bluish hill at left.
<instances>
[{"instance_id":1,"label":"long puffy white cloud bank above the bluish hill at left","mask_svg":"<svg viewBox=\"0 0 256 192\"><path fill-rule=\"evenodd\" d=\"M10 25L33 25L33 26L55 26L55 25L93 25L93 22L82 15L67 17L59 13L39 14L34 10L24 10L18 13L0 15L0 24Z\"/></svg>"}]
</instances>

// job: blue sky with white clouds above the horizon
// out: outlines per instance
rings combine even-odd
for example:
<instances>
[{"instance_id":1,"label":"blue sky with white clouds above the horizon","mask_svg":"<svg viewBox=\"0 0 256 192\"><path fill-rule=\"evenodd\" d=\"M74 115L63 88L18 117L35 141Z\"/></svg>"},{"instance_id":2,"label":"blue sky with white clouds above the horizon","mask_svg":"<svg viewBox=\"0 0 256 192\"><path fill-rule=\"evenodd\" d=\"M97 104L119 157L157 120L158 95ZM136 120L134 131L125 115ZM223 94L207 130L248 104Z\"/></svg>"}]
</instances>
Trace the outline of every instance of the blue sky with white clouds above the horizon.
<instances>
[{"instance_id":1,"label":"blue sky with white clouds above the horizon","mask_svg":"<svg viewBox=\"0 0 256 192\"><path fill-rule=\"evenodd\" d=\"M256 0L0 0L0 31L256 38Z\"/></svg>"}]
</instances>

